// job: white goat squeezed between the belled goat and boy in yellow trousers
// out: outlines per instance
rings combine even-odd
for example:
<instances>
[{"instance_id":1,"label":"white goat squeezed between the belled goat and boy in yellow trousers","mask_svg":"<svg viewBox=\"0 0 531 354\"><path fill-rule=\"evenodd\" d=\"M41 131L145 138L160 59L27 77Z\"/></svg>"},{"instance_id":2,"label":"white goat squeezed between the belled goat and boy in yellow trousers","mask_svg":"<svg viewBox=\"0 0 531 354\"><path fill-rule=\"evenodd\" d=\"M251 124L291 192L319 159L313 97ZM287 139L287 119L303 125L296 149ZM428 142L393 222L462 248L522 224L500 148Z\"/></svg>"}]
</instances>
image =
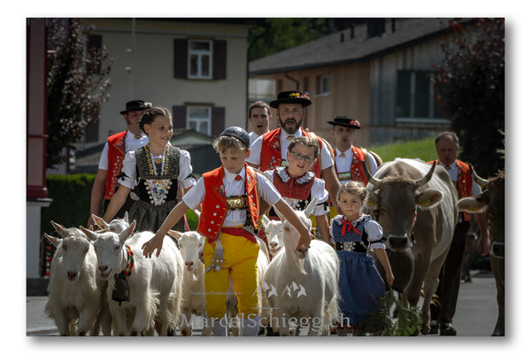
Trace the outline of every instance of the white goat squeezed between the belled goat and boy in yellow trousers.
<instances>
[{"instance_id":1,"label":"white goat squeezed between the belled goat and boy in yellow trousers","mask_svg":"<svg viewBox=\"0 0 531 354\"><path fill-rule=\"evenodd\" d=\"M192 314L206 319L206 298L204 297L204 264L199 252L204 247L204 237L195 231L180 233L170 230L168 234L179 241L179 250L184 260L184 276L181 290L181 335L192 335ZM204 323L208 321L204 320ZM202 335L211 335L212 329L203 327Z\"/></svg>"}]
</instances>

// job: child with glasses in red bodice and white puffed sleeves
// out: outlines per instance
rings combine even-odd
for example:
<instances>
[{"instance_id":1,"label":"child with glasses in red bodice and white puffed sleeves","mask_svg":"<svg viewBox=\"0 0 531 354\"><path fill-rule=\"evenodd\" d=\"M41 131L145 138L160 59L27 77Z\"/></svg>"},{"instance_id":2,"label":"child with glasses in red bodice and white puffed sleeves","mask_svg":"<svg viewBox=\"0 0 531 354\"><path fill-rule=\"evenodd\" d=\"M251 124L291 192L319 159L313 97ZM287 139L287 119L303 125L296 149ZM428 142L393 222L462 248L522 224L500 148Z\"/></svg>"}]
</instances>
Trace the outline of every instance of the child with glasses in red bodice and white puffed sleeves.
<instances>
[{"instance_id":1,"label":"child with glasses in red bodice and white puffed sleeves","mask_svg":"<svg viewBox=\"0 0 531 354\"><path fill-rule=\"evenodd\" d=\"M276 166L264 174L273 182L274 188L282 198L296 211L306 209L314 196L317 204L313 210L320 239L329 242L328 234L328 192L325 181L317 178L312 170L313 164L319 157L319 144L307 136L294 138L289 142L287 151L287 165ZM278 219L272 209L269 212L271 219Z\"/></svg>"}]
</instances>

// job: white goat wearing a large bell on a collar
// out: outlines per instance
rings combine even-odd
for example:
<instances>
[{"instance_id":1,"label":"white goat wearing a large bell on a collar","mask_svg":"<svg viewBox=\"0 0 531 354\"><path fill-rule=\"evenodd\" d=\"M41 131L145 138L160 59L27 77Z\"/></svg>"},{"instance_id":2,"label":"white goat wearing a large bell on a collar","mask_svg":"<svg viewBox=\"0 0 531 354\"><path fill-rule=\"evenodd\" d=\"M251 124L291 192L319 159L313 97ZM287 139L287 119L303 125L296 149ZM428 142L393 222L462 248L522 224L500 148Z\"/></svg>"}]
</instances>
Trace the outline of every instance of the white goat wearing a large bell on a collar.
<instances>
[{"instance_id":1,"label":"white goat wearing a large bell on a collar","mask_svg":"<svg viewBox=\"0 0 531 354\"><path fill-rule=\"evenodd\" d=\"M97 234L84 227L81 230L94 240L98 261L98 275L109 281L107 296L112 313L113 335L140 335L142 331L152 334L154 320L161 324L160 335L166 335L168 326L176 327L181 301L183 262L181 253L173 241L164 243L158 258L144 258L142 243L154 235L141 232L133 235L136 222L119 235L112 232ZM112 300L115 275L127 268L129 246L135 259L135 267L127 276L130 301L119 304ZM130 312L127 312L130 310ZM135 319L129 326L127 314L135 312Z\"/></svg>"}]
</instances>

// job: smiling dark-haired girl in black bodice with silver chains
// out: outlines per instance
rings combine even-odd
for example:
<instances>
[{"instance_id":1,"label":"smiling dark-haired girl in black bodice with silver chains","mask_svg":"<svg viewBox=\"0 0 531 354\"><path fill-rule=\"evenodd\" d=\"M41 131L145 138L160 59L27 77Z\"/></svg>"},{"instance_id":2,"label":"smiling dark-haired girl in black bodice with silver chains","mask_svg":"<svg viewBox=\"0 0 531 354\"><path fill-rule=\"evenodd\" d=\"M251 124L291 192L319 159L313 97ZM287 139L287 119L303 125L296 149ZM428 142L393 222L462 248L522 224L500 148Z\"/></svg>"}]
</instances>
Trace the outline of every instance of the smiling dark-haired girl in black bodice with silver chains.
<instances>
[{"instance_id":1,"label":"smiling dark-haired girl in black bodice with silver chains","mask_svg":"<svg viewBox=\"0 0 531 354\"><path fill-rule=\"evenodd\" d=\"M145 111L139 126L150 141L127 152L119 189L112 196L104 220L112 220L133 190L135 203L128 211L129 219L136 220L136 231L155 232L177 204L179 187L186 193L196 185L196 180L191 174L189 152L170 144L173 124L167 109L153 107ZM184 224L176 228L184 231Z\"/></svg>"}]
</instances>

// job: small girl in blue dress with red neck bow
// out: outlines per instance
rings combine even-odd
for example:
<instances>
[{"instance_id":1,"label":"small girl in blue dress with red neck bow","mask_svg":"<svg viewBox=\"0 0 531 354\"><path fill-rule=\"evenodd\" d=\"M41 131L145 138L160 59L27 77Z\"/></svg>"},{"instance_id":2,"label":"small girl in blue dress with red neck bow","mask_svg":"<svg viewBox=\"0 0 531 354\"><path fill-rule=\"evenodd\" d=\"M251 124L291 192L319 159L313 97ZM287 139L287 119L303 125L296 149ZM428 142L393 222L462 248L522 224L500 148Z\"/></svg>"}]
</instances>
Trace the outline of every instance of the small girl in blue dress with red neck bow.
<instances>
[{"instance_id":1,"label":"small girl in blue dress with red neck bow","mask_svg":"<svg viewBox=\"0 0 531 354\"><path fill-rule=\"evenodd\" d=\"M337 201L344 215L336 215L330 221L331 242L341 262L342 324L338 327L338 335L346 335L347 330L353 330L354 335L362 333L360 323L369 317L378 300L385 295L385 285L369 250L385 269L389 286L395 280L380 224L360 212L367 195L365 186L358 181L343 184L337 193Z\"/></svg>"}]
</instances>

